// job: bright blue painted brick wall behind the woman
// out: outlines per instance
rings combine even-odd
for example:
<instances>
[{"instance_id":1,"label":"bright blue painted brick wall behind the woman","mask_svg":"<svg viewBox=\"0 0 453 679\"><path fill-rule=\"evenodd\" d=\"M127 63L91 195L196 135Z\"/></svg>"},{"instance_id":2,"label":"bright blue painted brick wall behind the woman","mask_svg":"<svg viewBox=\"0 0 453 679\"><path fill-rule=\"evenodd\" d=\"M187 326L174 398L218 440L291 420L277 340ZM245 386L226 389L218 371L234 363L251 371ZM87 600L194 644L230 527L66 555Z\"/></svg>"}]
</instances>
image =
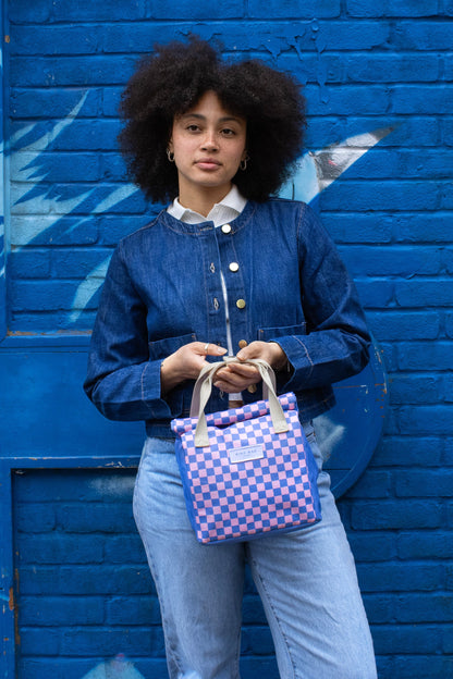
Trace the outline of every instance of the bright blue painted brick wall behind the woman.
<instances>
[{"instance_id":1,"label":"bright blue painted brick wall behind the woman","mask_svg":"<svg viewBox=\"0 0 453 679\"><path fill-rule=\"evenodd\" d=\"M380 678L452 677L453 2L5 0L4 15L13 335L89 331L112 248L159 209L115 147L122 87L155 41L194 30L295 73L313 153L392 128L318 200L391 382L382 441L339 505ZM131 484L15 479L21 679L81 679L120 652L145 679L166 676ZM250 584L244 616L244 677L274 677Z\"/></svg>"}]
</instances>

